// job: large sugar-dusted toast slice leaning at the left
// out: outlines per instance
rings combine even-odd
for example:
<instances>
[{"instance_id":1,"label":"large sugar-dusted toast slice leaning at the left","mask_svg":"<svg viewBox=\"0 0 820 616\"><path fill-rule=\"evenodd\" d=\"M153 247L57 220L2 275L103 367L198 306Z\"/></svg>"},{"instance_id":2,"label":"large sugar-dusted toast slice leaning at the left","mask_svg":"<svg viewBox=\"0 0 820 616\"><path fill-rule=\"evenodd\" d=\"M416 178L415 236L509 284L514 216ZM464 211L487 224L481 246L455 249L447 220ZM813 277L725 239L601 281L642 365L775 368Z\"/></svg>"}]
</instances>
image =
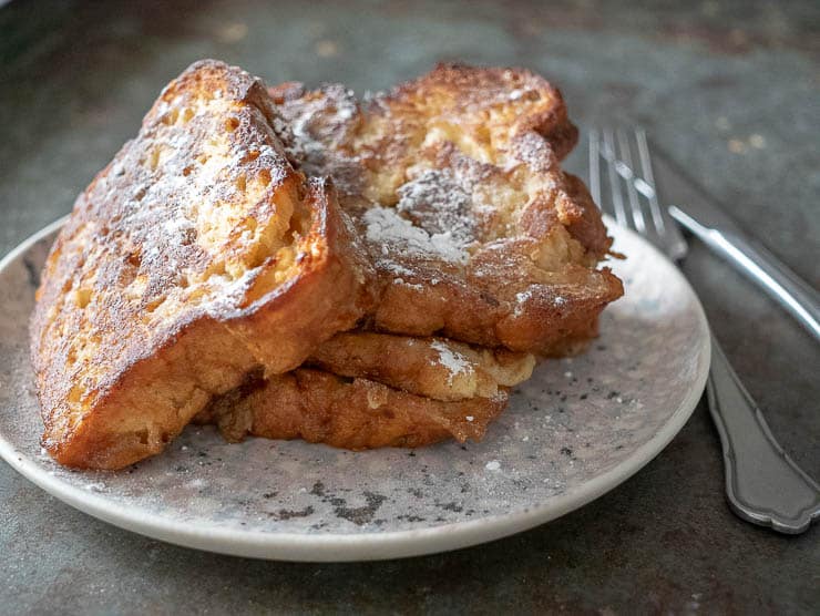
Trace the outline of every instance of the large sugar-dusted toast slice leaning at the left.
<instances>
[{"instance_id":1,"label":"large sugar-dusted toast slice leaning at the left","mask_svg":"<svg viewBox=\"0 0 820 616\"><path fill-rule=\"evenodd\" d=\"M290 166L276 114L260 81L198 62L78 198L31 321L60 463L155 454L213 396L296 368L362 315L355 232Z\"/></svg>"}]
</instances>

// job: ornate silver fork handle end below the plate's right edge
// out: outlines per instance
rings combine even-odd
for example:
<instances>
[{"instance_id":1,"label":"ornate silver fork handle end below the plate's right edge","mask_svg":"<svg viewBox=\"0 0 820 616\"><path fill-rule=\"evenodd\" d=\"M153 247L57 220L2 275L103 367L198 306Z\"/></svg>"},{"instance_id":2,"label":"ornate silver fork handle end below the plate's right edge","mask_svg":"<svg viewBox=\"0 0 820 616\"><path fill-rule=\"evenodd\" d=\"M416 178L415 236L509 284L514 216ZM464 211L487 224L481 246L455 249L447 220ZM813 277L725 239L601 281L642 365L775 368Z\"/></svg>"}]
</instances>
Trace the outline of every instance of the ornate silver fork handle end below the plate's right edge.
<instances>
[{"instance_id":1,"label":"ornate silver fork handle end below the plate's right edge","mask_svg":"<svg viewBox=\"0 0 820 616\"><path fill-rule=\"evenodd\" d=\"M714 336L706 392L720 434L731 509L781 533L806 531L820 516L820 486L777 443Z\"/></svg>"}]
</instances>

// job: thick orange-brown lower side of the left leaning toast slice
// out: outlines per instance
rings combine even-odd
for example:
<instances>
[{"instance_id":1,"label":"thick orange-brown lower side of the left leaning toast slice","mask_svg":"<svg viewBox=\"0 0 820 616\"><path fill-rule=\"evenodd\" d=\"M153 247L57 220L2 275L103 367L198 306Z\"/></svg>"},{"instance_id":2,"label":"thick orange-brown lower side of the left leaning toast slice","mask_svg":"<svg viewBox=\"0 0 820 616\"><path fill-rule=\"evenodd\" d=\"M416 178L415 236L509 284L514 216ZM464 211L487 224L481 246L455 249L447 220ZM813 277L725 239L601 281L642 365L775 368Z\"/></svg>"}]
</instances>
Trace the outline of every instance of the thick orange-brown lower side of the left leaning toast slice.
<instances>
[{"instance_id":1,"label":"thick orange-brown lower side of the left leaning toast slice","mask_svg":"<svg viewBox=\"0 0 820 616\"><path fill-rule=\"evenodd\" d=\"M286 292L227 322L203 317L186 324L173 339L119 374L69 433L53 433L53 415L44 413L43 446L58 462L120 469L160 453L213 396L239 386L258 368L259 355L269 357L264 346L279 346L276 371L283 371L301 363L322 339L352 327L361 309L350 289L361 280L356 280L353 264L337 254L335 244L346 243L339 237L345 232L338 215L328 211L327 187L321 182L312 187L319 191L314 233L326 237L328 245L289 281ZM271 339L260 342L265 337ZM48 387L41 380L44 361L35 356L40 391Z\"/></svg>"}]
</instances>

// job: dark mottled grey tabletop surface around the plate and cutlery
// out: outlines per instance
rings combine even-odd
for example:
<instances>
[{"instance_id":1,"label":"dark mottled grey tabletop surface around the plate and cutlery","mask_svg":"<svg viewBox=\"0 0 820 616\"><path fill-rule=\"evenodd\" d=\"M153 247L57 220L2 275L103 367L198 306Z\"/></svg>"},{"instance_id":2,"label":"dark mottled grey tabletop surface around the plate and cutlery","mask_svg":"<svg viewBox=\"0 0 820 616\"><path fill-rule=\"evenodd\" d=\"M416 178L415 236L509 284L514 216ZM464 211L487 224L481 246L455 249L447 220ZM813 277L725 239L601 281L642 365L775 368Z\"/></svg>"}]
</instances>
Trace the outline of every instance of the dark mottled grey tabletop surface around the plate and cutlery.
<instances>
[{"instance_id":1,"label":"dark mottled grey tabletop surface around the plate and cutlery","mask_svg":"<svg viewBox=\"0 0 820 616\"><path fill-rule=\"evenodd\" d=\"M24 2L0 9L0 253L66 213L156 92L216 57L270 82L380 89L439 59L522 64L583 127L634 119L820 284L817 2ZM820 476L820 353L728 266L687 274L792 456ZM562 520L462 552L295 565L193 552L92 520L0 464L0 613L817 613L818 530L735 519L701 405L653 463Z\"/></svg>"}]
</instances>

